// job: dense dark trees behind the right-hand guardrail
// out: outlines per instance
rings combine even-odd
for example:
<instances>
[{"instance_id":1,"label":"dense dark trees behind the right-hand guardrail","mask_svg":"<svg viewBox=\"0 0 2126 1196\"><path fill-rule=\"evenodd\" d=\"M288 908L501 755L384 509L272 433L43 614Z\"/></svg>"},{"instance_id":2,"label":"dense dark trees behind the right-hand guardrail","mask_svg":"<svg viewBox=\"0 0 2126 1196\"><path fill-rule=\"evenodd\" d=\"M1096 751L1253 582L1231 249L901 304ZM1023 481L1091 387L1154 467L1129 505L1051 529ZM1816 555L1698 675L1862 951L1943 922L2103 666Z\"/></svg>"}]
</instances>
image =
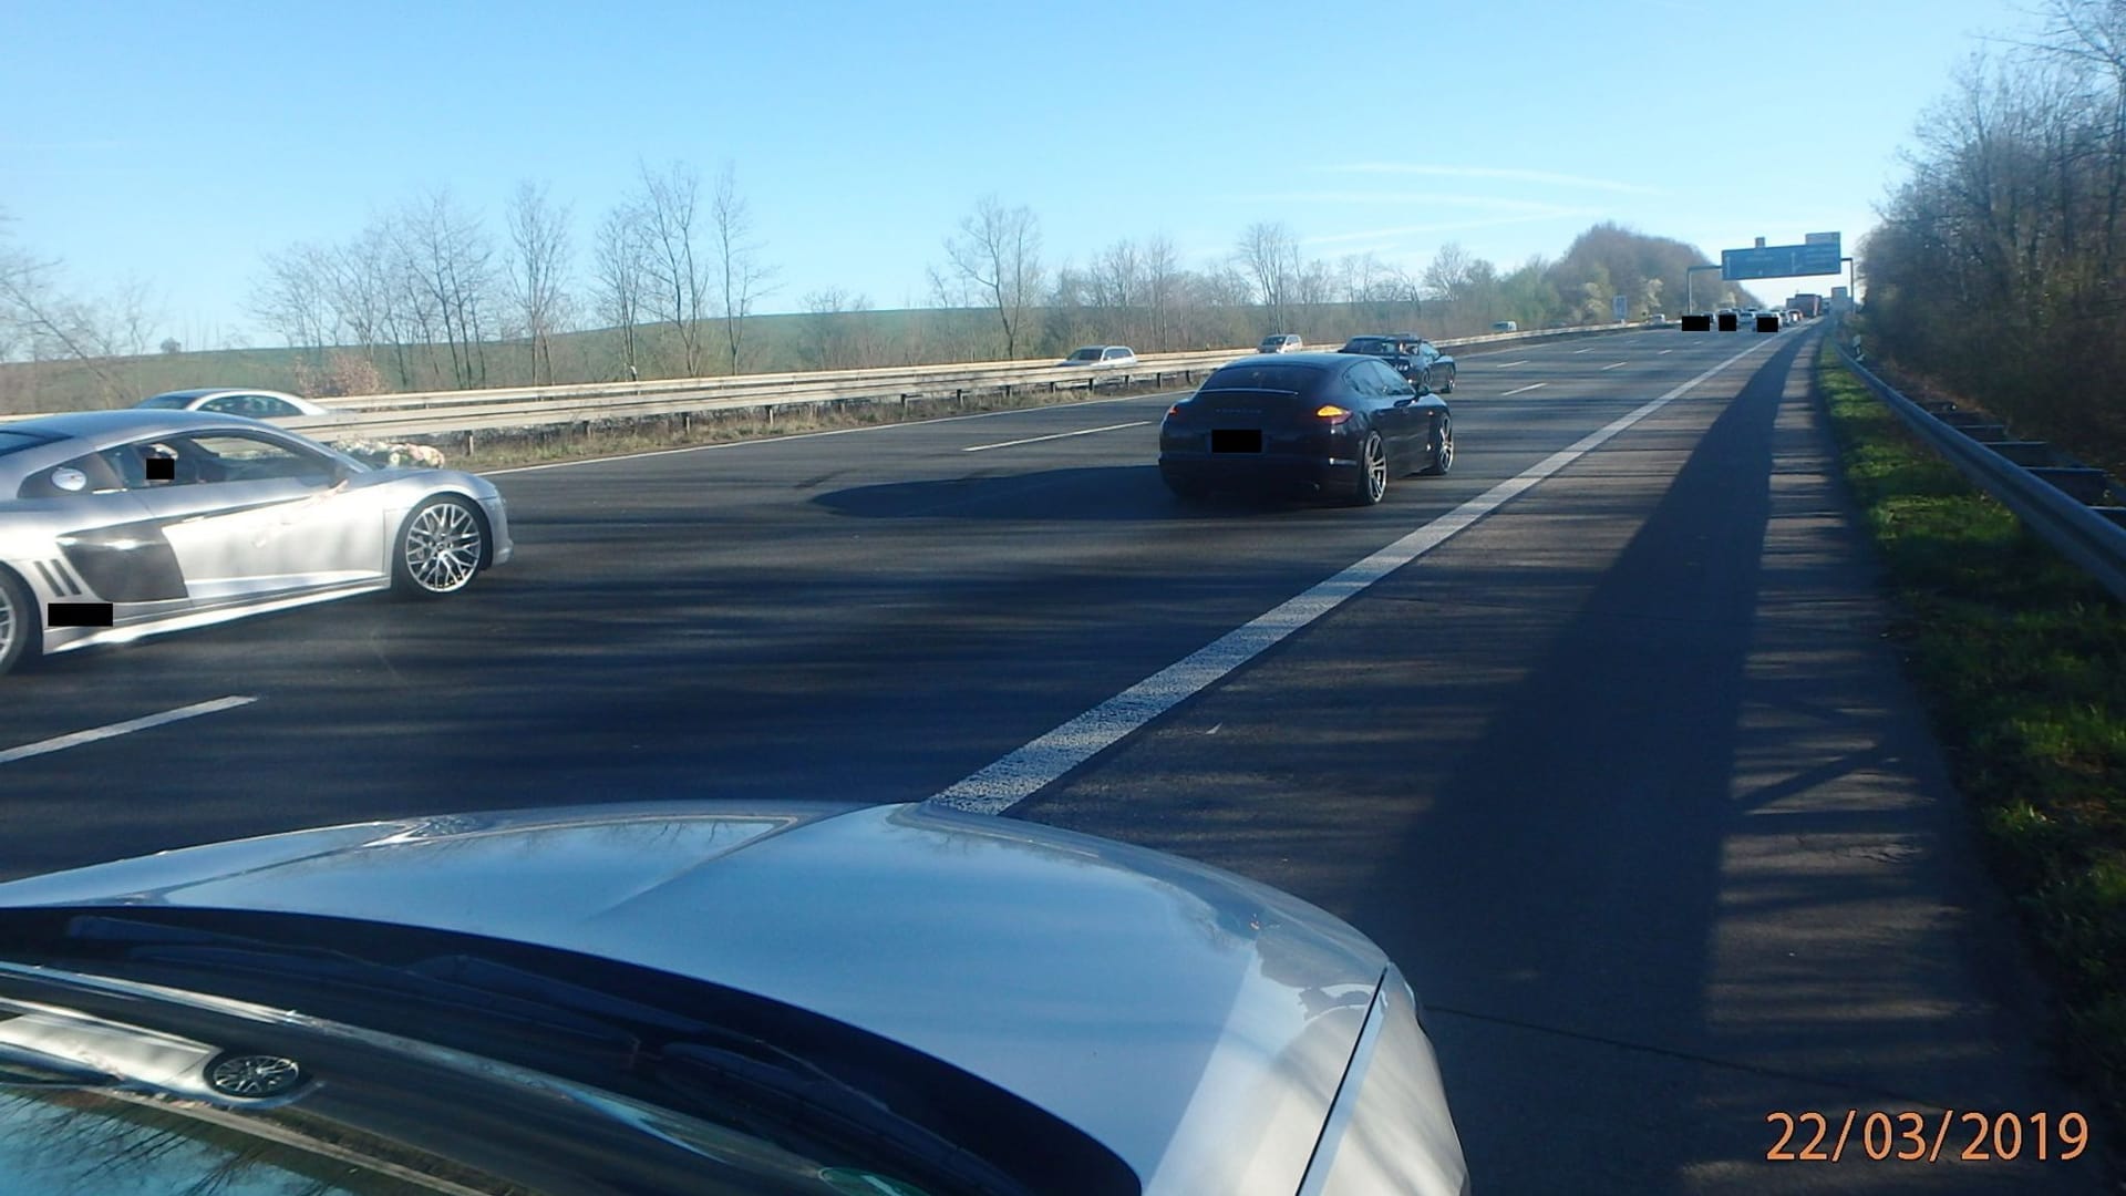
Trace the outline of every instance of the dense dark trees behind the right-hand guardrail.
<instances>
[{"instance_id":1,"label":"dense dark trees behind the right-hand guardrail","mask_svg":"<svg viewBox=\"0 0 2126 1196\"><path fill-rule=\"evenodd\" d=\"M1860 247L1877 353L2126 472L2126 4L2049 0L1926 115Z\"/></svg>"}]
</instances>

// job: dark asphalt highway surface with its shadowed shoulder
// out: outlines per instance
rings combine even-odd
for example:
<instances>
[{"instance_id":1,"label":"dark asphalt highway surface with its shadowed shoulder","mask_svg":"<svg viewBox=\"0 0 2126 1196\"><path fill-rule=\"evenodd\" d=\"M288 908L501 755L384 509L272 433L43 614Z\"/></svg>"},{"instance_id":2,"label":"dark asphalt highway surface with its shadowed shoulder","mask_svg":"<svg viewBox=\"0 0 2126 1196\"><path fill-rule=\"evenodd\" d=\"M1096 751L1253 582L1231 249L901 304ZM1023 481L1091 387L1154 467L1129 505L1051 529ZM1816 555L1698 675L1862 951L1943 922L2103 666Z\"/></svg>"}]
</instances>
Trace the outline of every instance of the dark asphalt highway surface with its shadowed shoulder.
<instances>
[{"instance_id":1,"label":"dark asphalt highway surface with its shadowed shoulder","mask_svg":"<svg viewBox=\"0 0 2126 1196\"><path fill-rule=\"evenodd\" d=\"M2086 1104L1899 679L1816 343L1467 347L1452 475L1373 509L1178 504L1171 396L504 470L519 555L457 598L0 681L0 877L366 817L944 796L1371 934L1478 1192L2105 1192L2094 1149L2035 1160L2030 1115ZM1767 1158L1811 1111L1824 1156L1856 1111L1841 1158ZM1873 1162L1871 1111L1945 1145ZM1964 1111L2020 1117L2022 1158L1962 1158Z\"/></svg>"}]
</instances>

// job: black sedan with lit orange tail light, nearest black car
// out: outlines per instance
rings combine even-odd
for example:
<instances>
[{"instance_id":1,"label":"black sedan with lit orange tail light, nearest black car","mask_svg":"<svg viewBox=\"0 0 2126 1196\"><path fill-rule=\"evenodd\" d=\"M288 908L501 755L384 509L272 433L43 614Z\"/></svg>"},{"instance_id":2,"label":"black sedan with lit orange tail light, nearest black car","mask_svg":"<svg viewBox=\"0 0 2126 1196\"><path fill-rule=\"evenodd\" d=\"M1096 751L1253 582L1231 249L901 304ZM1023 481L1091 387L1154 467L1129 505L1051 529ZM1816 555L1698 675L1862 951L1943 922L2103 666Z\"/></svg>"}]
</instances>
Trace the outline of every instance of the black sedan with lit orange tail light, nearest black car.
<instances>
[{"instance_id":1,"label":"black sedan with lit orange tail light, nearest black car","mask_svg":"<svg viewBox=\"0 0 2126 1196\"><path fill-rule=\"evenodd\" d=\"M1446 400L1371 355L1242 358L1159 426L1159 477L1182 498L1276 489L1371 506L1390 477L1450 468Z\"/></svg>"}]
</instances>

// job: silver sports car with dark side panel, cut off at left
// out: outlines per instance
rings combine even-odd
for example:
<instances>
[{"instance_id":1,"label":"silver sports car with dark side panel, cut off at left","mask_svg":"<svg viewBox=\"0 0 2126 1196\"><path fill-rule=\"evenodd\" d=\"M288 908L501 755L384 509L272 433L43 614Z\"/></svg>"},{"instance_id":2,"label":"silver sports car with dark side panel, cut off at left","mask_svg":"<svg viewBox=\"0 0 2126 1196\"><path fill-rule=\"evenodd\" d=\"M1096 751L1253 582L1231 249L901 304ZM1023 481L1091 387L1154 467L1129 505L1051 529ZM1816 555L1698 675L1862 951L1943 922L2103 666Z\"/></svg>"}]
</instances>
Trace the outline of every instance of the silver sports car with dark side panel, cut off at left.
<instances>
[{"instance_id":1,"label":"silver sports car with dark side panel, cut off at left","mask_svg":"<svg viewBox=\"0 0 2126 1196\"><path fill-rule=\"evenodd\" d=\"M378 470L200 411L0 426L0 672L368 589L451 594L506 560L502 494L470 472Z\"/></svg>"}]
</instances>

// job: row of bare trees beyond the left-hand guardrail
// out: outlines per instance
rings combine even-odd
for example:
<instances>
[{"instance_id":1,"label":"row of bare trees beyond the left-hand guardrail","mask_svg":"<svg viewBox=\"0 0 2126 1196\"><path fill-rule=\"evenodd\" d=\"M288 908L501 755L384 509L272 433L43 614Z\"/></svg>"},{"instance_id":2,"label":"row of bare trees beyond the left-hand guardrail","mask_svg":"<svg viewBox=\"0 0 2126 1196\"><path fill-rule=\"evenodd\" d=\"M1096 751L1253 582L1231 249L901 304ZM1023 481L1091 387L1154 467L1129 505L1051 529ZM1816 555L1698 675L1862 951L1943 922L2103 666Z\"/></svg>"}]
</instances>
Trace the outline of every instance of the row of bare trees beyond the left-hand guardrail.
<instances>
[{"instance_id":1,"label":"row of bare trees beyond the left-hand guardrail","mask_svg":"<svg viewBox=\"0 0 2126 1196\"><path fill-rule=\"evenodd\" d=\"M1033 209L989 196L942 238L929 306L874 311L870 296L823 287L802 296L802 315L763 323L757 309L774 294L776 268L729 166L712 183L687 164L642 166L631 194L591 226L589 245L576 245L574 226L568 204L527 181L500 228L451 192L429 192L347 240L268 253L251 309L302 353L279 368L289 377L257 381L334 396L1040 358L1082 343L1203 349L1267 332L1310 343L1367 330L1456 336L1497 319L1605 321L1616 294L1635 313L1673 306L1684 268L1703 260L1688 245L1603 223L1556 262L1499 268L1448 245L1412 275L1373 253L1307 258L1290 226L1259 221L1225 255L1193 266L1163 234L1050 266ZM94 366L113 351L145 351L151 321L136 317L132 340L81 334L83 321L53 315L70 309L53 304L49 287L9 281L21 272L0 275L0 319L19 315L0 323L15 330L0 360ZM9 287L45 298L32 309ZM106 372L108 402L142 389L138 368ZM259 370L247 360L238 372Z\"/></svg>"}]
</instances>

